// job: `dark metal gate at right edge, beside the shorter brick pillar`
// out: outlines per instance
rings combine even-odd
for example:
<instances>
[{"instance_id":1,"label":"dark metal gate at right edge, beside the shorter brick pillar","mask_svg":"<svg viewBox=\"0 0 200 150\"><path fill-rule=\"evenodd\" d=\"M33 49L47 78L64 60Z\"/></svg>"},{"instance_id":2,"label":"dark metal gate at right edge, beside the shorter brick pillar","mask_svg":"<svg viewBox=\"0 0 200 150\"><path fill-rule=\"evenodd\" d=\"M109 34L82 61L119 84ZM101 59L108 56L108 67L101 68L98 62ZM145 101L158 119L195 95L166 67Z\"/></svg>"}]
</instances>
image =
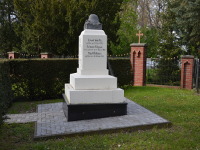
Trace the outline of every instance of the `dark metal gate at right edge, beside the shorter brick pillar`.
<instances>
[{"instance_id":1,"label":"dark metal gate at right edge, beside the shorter brick pillar","mask_svg":"<svg viewBox=\"0 0 200 150\"><path fill-rule=\"evenodd\" d=\"M193 83L194 88L200 93L200 59L195 59L194 62Z\"/></svg>"}]
</instances>

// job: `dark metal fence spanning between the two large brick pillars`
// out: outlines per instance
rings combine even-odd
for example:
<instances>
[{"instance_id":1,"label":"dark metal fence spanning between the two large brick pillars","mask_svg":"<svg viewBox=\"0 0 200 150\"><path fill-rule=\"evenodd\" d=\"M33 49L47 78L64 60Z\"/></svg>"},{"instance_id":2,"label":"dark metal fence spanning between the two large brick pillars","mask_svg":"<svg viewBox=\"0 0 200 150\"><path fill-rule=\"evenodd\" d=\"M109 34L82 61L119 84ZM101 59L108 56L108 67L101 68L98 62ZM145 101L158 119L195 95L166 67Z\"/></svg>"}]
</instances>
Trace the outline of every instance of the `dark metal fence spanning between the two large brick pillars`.
<instances>
[{"instance_id":1,"label":"dark metal fence spanning between the two large brick pillars","mask_svg":"<svg viewBox=\"0 0 200 150\"><path fill-rule=\"evenodd\" d=\"M147 58L146 83L180 86L179 58Z\"/></svg>"}]
</instances>

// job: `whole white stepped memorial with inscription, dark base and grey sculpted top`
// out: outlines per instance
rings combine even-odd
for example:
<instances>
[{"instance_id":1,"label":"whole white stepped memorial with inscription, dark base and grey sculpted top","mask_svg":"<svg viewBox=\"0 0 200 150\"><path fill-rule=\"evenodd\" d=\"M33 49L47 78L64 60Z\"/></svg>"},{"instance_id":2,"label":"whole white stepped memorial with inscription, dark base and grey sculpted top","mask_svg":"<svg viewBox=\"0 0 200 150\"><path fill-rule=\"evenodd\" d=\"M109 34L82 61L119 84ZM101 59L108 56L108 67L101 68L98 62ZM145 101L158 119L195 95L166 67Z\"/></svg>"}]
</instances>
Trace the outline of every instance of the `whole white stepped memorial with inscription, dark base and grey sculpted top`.
<instances>
[{"instance_id":1,"label":"whole white stepped memorial with inscription, dark base and grey sculpted top","mask_svg":"<svg viewBox=\"0 0 200 150\"><path fill-rule=\"evenodd\" d=\"M77 73L70 74L70 83L65 84L64 97L67 103L66 107L68 107L64 108L68 109L67 117L72 114L69 112L70 107L80 110L79 106L82 108L91 106L89 108L90 113L96 111L99 107L102 109L105 106L112 106L112 104L126 109L124 91L117 88L117 78L108 75L107 35L102 30L98 17L94 14L89 16L84 31L79 36L79 68ZM113 111L115 112L111 108L111 112ZM101 114L102 112L97 113ZM86 114L86 111L83 110L82 113ZM97 116L99 115L97 114ZM105 114L104 116L115 115ZM83 116L84 118L90 119L91 117ZM92 118L101 118L101 116Z\"/></svg>"}]
</instances>

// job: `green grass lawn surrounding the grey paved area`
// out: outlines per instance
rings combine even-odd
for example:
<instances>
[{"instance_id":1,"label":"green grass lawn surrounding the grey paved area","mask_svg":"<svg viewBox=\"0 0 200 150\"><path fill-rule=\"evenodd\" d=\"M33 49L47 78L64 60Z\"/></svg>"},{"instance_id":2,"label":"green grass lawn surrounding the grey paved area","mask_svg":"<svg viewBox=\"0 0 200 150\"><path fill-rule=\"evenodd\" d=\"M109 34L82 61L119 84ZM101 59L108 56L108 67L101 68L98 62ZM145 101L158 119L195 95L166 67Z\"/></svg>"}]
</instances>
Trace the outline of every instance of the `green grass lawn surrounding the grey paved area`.
<instances>
[{"instance_id":1,"label":"green grass lawn surrounding the grey paved area","mask_svg":"<svg viewBox=\"0 0 200 150\"><path fill-rule=\"evenodd\" d=\"M193 91L159 87L127 87L125 96L173 123L171 128L119 131L34 141L34 124L4 124L1 150L96 150L96 149L200 149L200 96ZM9 113L32 112L47 100L14 103Z\"/></svg>"}]
</instances>

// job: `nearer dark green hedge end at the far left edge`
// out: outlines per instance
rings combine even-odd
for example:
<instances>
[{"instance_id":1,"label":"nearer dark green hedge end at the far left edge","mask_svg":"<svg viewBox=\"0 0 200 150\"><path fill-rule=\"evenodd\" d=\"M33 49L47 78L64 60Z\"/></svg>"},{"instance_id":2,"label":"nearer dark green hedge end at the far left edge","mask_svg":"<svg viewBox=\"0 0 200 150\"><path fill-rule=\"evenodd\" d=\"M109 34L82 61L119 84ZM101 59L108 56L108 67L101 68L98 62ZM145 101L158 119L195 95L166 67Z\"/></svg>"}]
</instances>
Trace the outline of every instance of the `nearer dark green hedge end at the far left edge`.
<instances>
[{"instance_id":1,"label":"nearer dark green hedge end at the far left edge","mask_svg":"<svg viewBox=\"0 0 200 150\"><path fill-rule=\"evenodd\" d=\"M8 61L0 61L0 125L3 116L13 100L10 82L10 65Z\"/></svg>"}]
</instances>

